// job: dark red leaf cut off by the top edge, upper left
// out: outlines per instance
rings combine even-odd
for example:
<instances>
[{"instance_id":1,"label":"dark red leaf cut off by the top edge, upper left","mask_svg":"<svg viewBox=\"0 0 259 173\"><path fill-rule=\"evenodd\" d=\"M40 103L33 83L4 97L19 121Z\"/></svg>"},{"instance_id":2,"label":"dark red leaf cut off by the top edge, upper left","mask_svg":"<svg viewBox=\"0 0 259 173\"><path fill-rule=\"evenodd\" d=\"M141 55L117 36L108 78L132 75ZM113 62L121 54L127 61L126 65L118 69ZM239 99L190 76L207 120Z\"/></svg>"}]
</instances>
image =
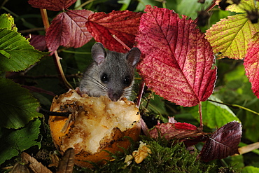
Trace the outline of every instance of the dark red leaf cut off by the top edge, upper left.
<instances>
[{"instance_id":1,"label":"dark red leaf cut off by the top edge, upper left","mask_svg":"<svg viewBox=\"0 0 259 173\"><path fill-rule=\"evenodd\" d=\"M62 11L69 8L76 0L29 0L28 3L34 8L47 9L49 11Z\"/></svg>"}]
</instances>

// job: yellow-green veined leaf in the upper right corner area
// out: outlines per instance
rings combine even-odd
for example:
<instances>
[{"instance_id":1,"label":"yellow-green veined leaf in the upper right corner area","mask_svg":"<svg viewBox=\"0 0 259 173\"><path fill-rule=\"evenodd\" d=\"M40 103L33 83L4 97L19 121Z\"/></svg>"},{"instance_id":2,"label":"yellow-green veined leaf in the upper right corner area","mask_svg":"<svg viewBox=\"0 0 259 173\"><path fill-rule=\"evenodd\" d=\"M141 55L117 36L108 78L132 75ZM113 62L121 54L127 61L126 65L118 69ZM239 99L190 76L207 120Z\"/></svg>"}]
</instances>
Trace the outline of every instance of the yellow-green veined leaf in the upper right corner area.
<instances>
[{"instance_id":1,"label":"yellow-green veined leaf in the upper right corner area","mask_svg":"<svg viewBox=\"0 0 259 173\"><path fill-rule=\"evenodd\" d=\"M206 37L214 53L222 53L219 57L241 60L246 55L248 42L256 32L259 32L259 25L252 24L246 14L239 14L221 19L207 30Z\"/></svg>"}]
</instances>

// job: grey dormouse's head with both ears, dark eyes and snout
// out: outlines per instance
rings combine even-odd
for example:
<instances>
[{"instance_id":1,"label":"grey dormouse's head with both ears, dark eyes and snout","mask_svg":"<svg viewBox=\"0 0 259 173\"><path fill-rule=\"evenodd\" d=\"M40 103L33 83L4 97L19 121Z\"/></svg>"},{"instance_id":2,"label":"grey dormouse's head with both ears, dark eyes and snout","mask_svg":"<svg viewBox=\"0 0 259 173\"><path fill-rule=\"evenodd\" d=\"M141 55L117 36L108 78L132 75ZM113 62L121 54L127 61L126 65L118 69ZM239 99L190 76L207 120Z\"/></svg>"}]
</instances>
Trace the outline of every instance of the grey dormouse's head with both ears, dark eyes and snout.
<instances>
[{"instance_id":1,"label":"grey dormouse's head with both ears, dark eyes and snout","mask_svg":"<svg viewBox=\"0 0 259 173\"><path fill-rule=\"evenodd\" d=\"M124 54L105 50L102 43L95 43L92 46L92 58L99 69L97 76L112 101L130 97L134 83L134 69L140 56L139 48L132 48Z\"/></svg>"}]
</instances>

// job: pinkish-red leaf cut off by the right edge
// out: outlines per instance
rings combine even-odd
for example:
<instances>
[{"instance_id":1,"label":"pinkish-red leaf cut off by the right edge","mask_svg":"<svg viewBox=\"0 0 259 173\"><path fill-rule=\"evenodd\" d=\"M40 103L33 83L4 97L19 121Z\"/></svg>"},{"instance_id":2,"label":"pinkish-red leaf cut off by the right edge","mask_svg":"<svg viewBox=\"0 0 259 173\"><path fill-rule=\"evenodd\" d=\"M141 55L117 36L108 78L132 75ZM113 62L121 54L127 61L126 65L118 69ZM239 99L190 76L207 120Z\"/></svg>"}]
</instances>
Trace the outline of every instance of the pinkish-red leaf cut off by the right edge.
<instances>
[{"instance_id":1,"label":"pinkish-red leaf cut off by the right edge","mask_svg":"<svg viewBox=\"0 0 259 173\"><path fill-rule=\"evenodd\" d=\"M244 67L246 76L252 84L253 93L259 98L259 33L256 33L248 43Z\"/></svg>"}]
</instances>

